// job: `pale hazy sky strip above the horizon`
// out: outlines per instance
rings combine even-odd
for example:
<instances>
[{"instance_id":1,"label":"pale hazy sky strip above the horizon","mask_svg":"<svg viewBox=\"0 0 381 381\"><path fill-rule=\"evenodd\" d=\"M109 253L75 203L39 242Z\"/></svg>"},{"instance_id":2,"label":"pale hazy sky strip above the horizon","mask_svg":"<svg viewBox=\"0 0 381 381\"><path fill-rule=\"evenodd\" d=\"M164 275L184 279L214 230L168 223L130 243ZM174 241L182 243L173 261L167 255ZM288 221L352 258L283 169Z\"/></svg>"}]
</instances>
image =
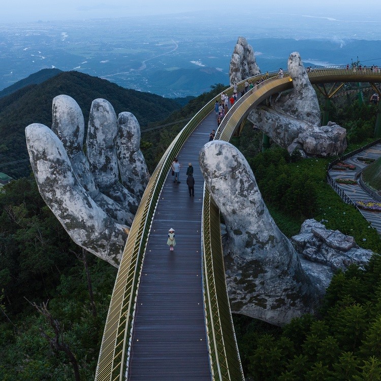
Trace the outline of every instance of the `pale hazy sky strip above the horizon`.
<instances>
[{"instance_id":1,"label":"pale hazy sky strip above the horizon","mask_svg":"<svg viewBox=\"0 0 381 381\"><path fill-rule=\"evenodd\" d=\"M189 11L231 14L239 22L239 12L319 14L327 17L340 8L348 15L381 17L381 0L0 0L0 23L37 20L68 20L125 17ZM298 12L299 13L299 12Z\"/></svg>"}]
</instances>

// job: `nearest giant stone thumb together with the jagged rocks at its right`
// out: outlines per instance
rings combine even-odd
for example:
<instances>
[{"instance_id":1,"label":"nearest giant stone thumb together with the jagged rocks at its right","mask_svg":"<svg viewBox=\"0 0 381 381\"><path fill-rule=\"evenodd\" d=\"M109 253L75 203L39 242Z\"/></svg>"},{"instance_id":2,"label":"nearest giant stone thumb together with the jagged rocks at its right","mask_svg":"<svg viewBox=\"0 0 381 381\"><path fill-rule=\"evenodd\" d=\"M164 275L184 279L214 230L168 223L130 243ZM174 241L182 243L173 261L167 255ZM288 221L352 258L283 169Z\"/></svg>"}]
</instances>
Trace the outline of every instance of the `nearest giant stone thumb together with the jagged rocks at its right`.
<instances>
[{"instance_id":1,"label":"nearest giant stone thumb together with the jagged rocks at its right","mask_svg":"<svg viewBox=\"0 0 381 381\"><path fill-rule=\"evenodd\" d=\"M315 311L335 270L363 266L373 255L353 237L314 219L305 220L290 241L275 225L249 165L232 144L205 144L199 162L225 219L221 234L233 312L284 325Z\"/></svg>"}]
</instances>

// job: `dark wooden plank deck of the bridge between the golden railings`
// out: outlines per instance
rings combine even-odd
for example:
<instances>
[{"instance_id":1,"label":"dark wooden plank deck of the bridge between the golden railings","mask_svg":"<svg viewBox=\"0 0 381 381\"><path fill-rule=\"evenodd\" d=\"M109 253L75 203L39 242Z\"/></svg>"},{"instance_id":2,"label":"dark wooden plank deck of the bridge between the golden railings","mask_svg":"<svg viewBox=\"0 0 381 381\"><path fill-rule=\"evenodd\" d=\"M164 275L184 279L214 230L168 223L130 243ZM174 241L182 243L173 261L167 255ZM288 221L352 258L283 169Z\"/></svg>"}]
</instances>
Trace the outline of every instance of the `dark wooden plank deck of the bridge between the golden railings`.
<instances>
[{"instance_id":1,"label":"dark wooden plank deck of the bridge between the golden railings","mask_svg":"<svg viewBox=\"0 0 381 381\"><path fill-rule=\"evenodd\" d=\"M171 171L154 215L140 280L133 329L129 381L211 380L202 294L201 214L204 179L201 147L217 129L210 113L181 148L180 184ZM194 167L195 197L186 185ZM174 251L167 246L175 229Z\"/></svg>"}]
</instances>

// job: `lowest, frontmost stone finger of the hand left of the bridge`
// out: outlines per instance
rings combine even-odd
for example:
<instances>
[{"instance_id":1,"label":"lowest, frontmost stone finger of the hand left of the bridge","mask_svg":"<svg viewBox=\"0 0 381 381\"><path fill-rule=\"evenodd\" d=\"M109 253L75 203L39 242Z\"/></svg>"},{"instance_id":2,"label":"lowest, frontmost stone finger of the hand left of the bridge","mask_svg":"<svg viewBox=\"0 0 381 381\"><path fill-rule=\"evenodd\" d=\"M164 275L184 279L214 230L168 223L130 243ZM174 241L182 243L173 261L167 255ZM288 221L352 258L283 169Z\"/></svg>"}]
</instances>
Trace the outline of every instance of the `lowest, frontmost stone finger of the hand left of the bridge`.
<instances>
[{"instance_id":1,"label":"lowest, frontmost stone finger of the hand left of the bridge","mask_svg":"<svg viewBox=\"0 0 381 381\"><path fill-rule=\"evenodd\" d=\"M117 224L91 199L62 142L47 126L30 124L25 135L30 164L46 204L74 242L117 266L127 227Z\"/></svg>"}]
</instances>

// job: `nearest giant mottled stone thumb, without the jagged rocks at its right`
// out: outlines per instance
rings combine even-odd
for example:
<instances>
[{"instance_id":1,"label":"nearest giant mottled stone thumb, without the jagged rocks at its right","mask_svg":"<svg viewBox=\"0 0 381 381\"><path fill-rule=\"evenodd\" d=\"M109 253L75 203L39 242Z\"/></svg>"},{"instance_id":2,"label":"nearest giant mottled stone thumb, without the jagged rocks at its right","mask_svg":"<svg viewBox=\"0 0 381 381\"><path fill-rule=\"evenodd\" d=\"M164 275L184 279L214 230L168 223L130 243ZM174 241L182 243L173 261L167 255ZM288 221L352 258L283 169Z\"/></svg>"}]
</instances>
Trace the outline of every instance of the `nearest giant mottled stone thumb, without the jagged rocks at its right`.
<instances>
[{"instance_id":1,"label":"nearest giant mottled stone thumb, without the jagged rocks at its right","mask_svg":"<svg viewBox=\"0 0 381 381\"><path fill-rule=\"evenodd\" d=\"M225 218L224 257L232 310L276 325L313 312L322 294L275 225L243 155L217 140L201 149L199 162Z\"/></svg>"}]
</instances>

